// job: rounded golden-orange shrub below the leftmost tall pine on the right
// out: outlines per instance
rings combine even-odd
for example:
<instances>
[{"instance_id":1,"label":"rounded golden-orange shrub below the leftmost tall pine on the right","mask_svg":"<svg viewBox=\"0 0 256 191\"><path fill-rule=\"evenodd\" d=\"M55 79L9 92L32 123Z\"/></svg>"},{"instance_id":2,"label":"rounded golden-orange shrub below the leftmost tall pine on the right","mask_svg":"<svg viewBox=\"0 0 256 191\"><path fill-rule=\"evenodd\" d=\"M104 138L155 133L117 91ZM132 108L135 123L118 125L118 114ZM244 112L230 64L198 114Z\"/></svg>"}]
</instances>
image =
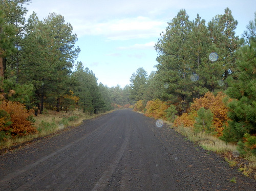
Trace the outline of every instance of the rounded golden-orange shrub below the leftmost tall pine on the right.
<instances>
[{"instance_id":1,"label":"rounded golden-orange shrub below the leftmost tall pine on the right","mask_svg":"<svg viewBox=\"0 0 256 191\"><path fill-rule=\"evenodd\" d=\"M154 101L148 101L146 103L146 112L145 115L148 117L154 117L154 118L165 118L166 115L166 109L168 106L165 102L162 102L159 99L156 99Z\"/></svg>"}]
</instances>

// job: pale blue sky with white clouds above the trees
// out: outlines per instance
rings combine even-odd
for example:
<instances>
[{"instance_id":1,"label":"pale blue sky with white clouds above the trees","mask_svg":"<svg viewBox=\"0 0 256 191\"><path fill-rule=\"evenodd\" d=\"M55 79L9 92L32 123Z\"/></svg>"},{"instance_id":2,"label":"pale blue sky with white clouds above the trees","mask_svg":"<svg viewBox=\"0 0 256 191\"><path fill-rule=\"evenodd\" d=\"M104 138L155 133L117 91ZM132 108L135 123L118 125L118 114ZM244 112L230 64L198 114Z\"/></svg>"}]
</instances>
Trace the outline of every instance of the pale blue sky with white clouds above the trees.
<instances>
[{"instance_id":1,"label":"pale blue sky with white clouds above the trees","mask_svg":"<svg viewBox=\"0 0 256 191\"><path fill-rule=\"evenodd\" d=\"M238 21L236 35L246 30L256 12L255 0L32 0L27 17L34 11L40 20L50 13L65 17L77 35L80 54L76 60L88 67L98 84L108 87L130 84L139 67L156 71L154 45L167 22L185 9L189 20L197 14L208 23L228 7Z\"/></svg>"}]
</instances>

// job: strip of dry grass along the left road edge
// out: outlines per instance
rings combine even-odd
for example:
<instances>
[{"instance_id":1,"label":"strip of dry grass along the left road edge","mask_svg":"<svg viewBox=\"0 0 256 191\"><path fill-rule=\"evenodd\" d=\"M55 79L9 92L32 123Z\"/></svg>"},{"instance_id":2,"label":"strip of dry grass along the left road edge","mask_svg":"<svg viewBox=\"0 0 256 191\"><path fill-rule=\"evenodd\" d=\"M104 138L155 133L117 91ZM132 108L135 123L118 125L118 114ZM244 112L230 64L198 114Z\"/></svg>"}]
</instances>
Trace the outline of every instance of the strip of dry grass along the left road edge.
<instances>
[{"instance_id":1,"label":"strip of dry grass along the left road edge","mask_svg":"<svg viewBox=\"0 0 256 191\"><path fill-rule=\"evenodd\" d=\"M1 141L0 149L8 149L15 145L19 145L24 142L33 140L37 137L43 137L50 135L52 133L56 133L57 131L65 129L67 127L79 126L81 125L83 120L88 120L90 118L94 118L110 112L112 111L88 115L84 114L82 111L78 109L67 113L64 111L56 112L51 110L45 110L43 114L38 114L37 116L34 116L34 126L38 130L38 133L29 134L27 136L22 137L10 138L8 140Z\"/></svg>"}]
</instances>

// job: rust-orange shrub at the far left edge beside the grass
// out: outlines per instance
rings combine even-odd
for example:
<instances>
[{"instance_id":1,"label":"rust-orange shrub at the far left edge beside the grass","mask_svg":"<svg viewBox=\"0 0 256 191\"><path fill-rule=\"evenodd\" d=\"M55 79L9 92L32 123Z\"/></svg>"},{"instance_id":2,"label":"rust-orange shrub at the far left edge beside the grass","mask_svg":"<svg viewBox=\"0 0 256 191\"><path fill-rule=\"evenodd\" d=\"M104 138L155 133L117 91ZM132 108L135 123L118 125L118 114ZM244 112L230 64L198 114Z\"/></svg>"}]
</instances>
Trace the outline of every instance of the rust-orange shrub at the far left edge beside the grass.
<instances>
[{"instance_id":1,"label":"rust-orange shrub at the far left edge beside the grass","mask_svg":"<svg viewBox=\"0 0 256 191\"><path fill-rule=\"evenodd\" d=\"M35 127L32 126L32 123L27 120L31 114L28 113L24 104L3 101L0 105L0 109L10 114L12 124L8 126L8 128L5 128L5 130L11 130L12 136L27 135L37 131Z\"/></svg>"}]
</instances>

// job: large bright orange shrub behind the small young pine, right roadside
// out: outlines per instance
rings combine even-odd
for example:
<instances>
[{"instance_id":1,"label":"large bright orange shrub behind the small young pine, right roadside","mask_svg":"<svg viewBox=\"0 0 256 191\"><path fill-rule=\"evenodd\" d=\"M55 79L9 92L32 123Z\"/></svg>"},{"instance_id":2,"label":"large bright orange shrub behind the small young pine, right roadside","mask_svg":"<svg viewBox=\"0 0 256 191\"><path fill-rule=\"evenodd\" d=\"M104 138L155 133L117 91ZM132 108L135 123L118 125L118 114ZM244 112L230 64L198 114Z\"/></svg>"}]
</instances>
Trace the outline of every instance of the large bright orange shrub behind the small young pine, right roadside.
<instances>
[{"instance_id":1,"label":"large bright orange shrub behind the small young pine, right roadside","mask_svg":"<svg viewBox=\"0 0 256 191\"><path fill-rule=\"evenodd\" d=\"M223 103L223 99L227 96L223 92L219 92L217 96L213 93L207 92L204 97L195 99L191 104L189 110L199 110L201 107L210 109L214 114L214 127L217 132L217 136L222 135L223 125L228 125L227 107Z\"/></svg>"}]
</instances>

